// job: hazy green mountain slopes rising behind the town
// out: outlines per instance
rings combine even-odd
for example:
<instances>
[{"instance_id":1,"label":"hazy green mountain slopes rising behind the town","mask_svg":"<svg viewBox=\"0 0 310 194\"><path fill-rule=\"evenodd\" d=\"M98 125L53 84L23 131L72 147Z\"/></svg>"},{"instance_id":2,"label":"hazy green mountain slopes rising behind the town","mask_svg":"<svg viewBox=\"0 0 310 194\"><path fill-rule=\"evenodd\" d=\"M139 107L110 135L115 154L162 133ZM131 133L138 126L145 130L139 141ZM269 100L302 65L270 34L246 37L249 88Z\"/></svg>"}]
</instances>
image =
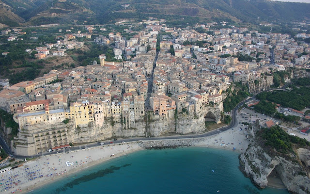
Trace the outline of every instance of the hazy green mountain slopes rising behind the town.
<instances>
[{"instance_id":1,"label":"hazy green mountain slopes rising behind the town","mask_svg":"<svg viewBox=\"0 0 310 194\"><path fill-rule=\"evenodd\" d=\"M96 24L116 19L166 18L175 23L208 21L289 23L310 21L310 4L270 0L0 0L26 25ZM3 12L0 12L3 13ZM2 14L3 15L3 14ZM4 14L3 16L5 16ZM13 17L11 20L14 20ZM22 22L16 18L15 22Z\"/></svg>"}]
</instances>

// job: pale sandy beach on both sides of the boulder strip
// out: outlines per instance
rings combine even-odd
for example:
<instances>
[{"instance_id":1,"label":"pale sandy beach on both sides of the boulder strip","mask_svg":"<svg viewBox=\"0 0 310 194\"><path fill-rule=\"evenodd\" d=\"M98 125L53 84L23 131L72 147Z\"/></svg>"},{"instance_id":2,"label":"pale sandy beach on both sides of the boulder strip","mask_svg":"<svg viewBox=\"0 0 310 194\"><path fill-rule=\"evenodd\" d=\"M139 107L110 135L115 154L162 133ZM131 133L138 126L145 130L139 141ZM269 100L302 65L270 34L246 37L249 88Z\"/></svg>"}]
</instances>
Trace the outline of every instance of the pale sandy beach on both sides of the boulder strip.
<instances>
[{"instance_id":1,"label":"pale sandy beach on both sides of the boulder strip","mask_svg":"<svg viewBox=\"0 0 310 194\"><path fill-rule=\"evenodd\" d=\"M210 137L199 138L195 146L215 147L245 152L248 147L246 132L238 129L227 130ZM89 166L108 161L115 157L129 154L142 148L137 142L121 145L104 145L84 150L42 156L34 161L24 163L23 166L0 174L1 194L27 193L59 178L66 178L69 174L88 168ZM1 184L2 183L2 184Z\"/></svg>"}]
</instances>

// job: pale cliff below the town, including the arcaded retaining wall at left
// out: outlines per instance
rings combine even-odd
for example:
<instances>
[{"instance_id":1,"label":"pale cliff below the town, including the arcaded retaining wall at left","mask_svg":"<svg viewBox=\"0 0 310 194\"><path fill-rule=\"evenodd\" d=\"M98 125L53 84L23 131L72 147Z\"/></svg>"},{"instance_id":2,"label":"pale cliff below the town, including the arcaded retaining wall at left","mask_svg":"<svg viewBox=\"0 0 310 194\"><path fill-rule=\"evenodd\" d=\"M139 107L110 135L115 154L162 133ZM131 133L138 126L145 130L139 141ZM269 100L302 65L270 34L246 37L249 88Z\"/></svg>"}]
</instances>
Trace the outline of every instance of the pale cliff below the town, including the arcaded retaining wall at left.
<instances>
[{"instance_id":1,"label":"pale cliff below the town, including the arcaded retaining wall at left","mask_svg":"<svg viewBox=\"0 0 310 194\"><path fill-rule=\"evenodd\" d=\"M69 143L85 144L116 137L147 137L160 136L170 132L179 134L201 133L205 130L205 120L220 123L223 104L202 105L198 113L175 113L171 110L166 115L147 113L140 120L130 123L126 129L121 116L106 118L102 126L90 122L76 128L75 121L62 121L53 125L42 123L19 129L18 137L12 141L12 151L18 155L34 155L45 152L49 148ZM5 130L5 133L10 133Z\"/></svg>"}]
</instances>

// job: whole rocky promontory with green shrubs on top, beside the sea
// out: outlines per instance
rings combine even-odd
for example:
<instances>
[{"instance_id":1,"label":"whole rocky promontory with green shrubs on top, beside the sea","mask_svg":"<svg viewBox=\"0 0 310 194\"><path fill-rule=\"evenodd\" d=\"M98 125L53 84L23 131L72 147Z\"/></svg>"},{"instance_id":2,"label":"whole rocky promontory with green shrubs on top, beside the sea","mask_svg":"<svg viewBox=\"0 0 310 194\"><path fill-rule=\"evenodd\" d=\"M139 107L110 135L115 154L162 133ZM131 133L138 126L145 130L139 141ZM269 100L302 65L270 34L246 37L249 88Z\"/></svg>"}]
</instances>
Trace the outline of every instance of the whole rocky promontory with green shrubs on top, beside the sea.
<instances>
[{"instance_id":1,"label":"whole rocky promontory with green shrubs on top, beside the sea","mask_svg":"<svg viewBox=\"0 0 310 194\"><path fill-rule=\"evenodd\" d=\"M270 177L280 179L290 193L310 194L310 143L288 135L279 126L249 131L250 144L239 156L240 170L260 188Z\"/></svg>"}]
</instances>

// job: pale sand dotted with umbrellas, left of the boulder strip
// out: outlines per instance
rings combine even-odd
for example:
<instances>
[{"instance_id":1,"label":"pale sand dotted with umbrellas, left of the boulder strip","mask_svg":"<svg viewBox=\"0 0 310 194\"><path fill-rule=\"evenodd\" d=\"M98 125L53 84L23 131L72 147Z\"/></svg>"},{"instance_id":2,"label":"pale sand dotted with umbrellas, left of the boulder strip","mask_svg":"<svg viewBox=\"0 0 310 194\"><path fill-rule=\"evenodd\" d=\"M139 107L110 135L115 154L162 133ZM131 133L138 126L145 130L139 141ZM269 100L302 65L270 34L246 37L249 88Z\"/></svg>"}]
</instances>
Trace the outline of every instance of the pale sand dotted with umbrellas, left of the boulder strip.
<instances>
[{"instance_id":1,"label":"pale sand dotted with umbrellas, left of the boulder strip","mask_svg":"<svg viewBox=\"0 0 310 194\"><path fill-rule=\"evenodd\" d=\"M121 145L97 146L69 153L42 156L13 169L10 171L10 174L8 172L0 174L0 183L2 183L0 185L0 193L27 193L36 187L55 181L58 178L68 177L69 174L89 166L141 149L137 142L130 142ZM67 166L66 162L73 165Z\"/></svg>"}]
</instances>

